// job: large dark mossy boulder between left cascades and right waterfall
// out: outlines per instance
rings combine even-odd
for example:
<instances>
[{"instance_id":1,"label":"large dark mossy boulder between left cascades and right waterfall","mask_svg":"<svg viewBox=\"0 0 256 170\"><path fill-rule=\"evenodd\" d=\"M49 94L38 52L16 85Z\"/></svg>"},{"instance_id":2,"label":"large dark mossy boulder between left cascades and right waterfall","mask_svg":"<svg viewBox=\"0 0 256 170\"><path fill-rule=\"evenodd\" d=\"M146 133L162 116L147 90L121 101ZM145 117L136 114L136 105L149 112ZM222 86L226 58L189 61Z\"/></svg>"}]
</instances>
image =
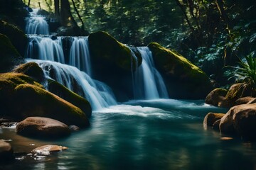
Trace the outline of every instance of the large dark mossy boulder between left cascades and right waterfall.
<instances>
[{"instance_id":1,"label":"large dark mossy boulder between left cascades and right waterfall","mask_svg":"<svg viewBox=\"0 0 256 170\"><path fill-rule=\"evenodd\" d=\"M110 86L119 101L132 98L131 71L142 63L139 52L131 51L127 45L102 31L91 33L88 41L93 77Z\"/></svg>"}]
</instances>

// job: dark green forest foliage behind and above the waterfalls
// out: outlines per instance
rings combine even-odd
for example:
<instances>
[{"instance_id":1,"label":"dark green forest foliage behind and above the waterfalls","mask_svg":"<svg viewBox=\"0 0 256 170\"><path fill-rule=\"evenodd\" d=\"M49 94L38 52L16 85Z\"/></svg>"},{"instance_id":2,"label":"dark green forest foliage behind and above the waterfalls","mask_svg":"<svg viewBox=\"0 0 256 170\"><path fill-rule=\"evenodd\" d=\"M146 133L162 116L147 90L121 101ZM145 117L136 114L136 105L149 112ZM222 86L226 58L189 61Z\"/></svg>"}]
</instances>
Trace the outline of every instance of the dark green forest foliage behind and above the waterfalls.
<instances>
[{"instance_id":1,"label":"dark green forest foliage behind and above the waterfalls","mask_svg":"<svg viewBox=\"0 0 256 170\"><path fill-rule=\"evenodd\" d=\"M203 69L215 86L235 81L228 80L231 71L225 66L255 54L255 0L23 2L31 8L43 8L52 16L68 6L73 22L85 34L104 30L120 42L136 46L159 42Z\"/></svg>"}]
</instances>

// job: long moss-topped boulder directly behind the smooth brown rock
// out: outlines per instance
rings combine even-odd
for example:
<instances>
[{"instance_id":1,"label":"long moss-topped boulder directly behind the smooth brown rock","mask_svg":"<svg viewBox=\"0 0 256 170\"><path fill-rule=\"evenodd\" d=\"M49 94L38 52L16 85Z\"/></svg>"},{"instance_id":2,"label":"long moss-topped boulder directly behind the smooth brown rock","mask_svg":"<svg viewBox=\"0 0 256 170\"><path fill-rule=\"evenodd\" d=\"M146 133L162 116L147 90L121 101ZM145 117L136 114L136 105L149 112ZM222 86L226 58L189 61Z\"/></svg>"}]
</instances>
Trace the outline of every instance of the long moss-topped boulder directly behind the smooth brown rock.
<instances>
[{"instance_id":1,"label":"long moss-topped boulder directly behind the smooth brown rock","mask_svg":"<svg viewBox=\"0 0 256 170\"><path fill-rule=\"evenodd\" d=\"M80 108L38 86L21 84L16 86L15 92L15 110L23 118L41 116L59 120L67 125L89 125L87 116Z\"/></svg>"}]
</instances>

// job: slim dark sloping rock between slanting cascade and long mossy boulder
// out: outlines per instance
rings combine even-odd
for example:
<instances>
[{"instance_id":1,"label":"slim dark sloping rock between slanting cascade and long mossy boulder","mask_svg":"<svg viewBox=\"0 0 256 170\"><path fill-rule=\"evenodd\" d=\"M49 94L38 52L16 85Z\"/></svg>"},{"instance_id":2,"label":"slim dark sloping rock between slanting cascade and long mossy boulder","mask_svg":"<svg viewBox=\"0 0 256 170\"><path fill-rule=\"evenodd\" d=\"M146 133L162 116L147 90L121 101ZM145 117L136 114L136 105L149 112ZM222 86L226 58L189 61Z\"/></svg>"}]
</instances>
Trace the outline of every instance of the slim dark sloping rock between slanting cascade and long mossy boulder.
<instances>
[{"instance_id":1,"label":"slim dark sloping rock between slanting cascade and long mossy boulder","mask_svg":"<svg viewBox=\"0 0 256 170\"><path fill-rule=\"evenodd\" d=\"M60 98L72 103L73 105L78 106L78 108L80 108L87 115L87 118L90 118L92 115L92 107L85 98L82 98L73 91L70 91L57 81L48 79L48 90Z\"/></svg>"}]
</instances>

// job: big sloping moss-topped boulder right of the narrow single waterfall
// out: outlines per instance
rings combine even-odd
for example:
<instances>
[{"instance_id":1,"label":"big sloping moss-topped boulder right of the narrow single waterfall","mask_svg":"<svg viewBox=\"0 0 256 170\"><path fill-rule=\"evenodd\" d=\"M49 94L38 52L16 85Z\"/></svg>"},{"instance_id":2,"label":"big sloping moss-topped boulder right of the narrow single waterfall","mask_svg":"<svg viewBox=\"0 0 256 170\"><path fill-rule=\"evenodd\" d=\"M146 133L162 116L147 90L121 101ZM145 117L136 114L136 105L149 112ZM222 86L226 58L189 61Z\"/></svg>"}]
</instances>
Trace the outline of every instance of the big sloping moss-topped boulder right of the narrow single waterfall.
<instances>
[{"instance_id":1,"label":"big sloping moss-topped boulder right of the narrow single waterfall","mask_svg":"<svg viewBox=\"0 0 256 170\"><path fill-rule=\"evenodd\" d=\"M213 89L206 73L178 52L167 50L156 42L151 42L148 47L171 98L206 98Z\"/></svg>"}]
</instances>

